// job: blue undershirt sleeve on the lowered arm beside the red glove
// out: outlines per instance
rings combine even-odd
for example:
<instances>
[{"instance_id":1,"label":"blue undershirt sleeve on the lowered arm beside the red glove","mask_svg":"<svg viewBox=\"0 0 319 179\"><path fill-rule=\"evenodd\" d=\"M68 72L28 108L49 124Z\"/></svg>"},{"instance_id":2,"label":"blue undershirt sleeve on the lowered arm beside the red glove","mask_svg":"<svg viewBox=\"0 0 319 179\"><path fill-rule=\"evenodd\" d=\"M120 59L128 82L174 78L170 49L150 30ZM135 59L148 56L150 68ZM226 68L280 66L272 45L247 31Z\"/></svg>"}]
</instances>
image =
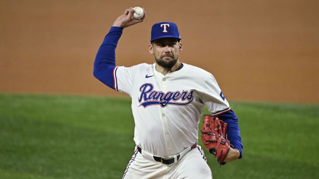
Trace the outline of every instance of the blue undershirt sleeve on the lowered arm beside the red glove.
<instances>
[{"instance_id":1,"label":"blue undershirt sleeve on the lowered arm beside the red glove","mask_svg":"<svg viewBox=\"0 0 319 179\"><path fill-rule=\"evenodd\" d=\"M227 138L229 142L234 146L235 149L239 150L240 156L242 158L243 154L243 143L240 137L240 130L238 126L238 118L233 110L217 116L219 119L227 123Z\"/></svg>"}]
</instances>

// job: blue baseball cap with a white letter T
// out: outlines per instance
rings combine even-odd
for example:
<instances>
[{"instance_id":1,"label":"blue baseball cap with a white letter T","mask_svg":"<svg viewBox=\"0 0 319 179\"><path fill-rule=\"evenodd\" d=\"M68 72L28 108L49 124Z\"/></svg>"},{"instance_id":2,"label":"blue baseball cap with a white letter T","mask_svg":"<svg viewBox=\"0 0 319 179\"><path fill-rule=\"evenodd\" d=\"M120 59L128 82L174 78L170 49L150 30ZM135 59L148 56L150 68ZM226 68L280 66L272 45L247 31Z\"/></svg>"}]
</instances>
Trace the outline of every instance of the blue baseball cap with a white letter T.
<instances>
[{"instance_id":1,"label":"blue baseball cap with a white letter T","mask_svg":"<svg viewBox=\"0 0 319 179\"><path fill-rule=\"evenodd\" d=\"M181 40L177 25L173 22L159 22L152 26L151 42L160 38L177 38Z\"/></svg>"}]
</instances>

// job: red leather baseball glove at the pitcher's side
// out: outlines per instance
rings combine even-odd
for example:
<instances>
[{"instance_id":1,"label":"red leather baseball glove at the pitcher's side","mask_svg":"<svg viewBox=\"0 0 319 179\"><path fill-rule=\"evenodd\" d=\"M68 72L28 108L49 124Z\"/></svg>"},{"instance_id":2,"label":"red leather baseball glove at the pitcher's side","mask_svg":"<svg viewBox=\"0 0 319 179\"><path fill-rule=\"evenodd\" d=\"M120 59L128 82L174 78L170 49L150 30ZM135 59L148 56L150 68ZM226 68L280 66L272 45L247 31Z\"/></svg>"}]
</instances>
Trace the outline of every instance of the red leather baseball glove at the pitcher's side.
<instances>
[{"instance_id":1,"label":"red leather baseball glove at the pitcher's side","mask_svg":"<svg viewBox=\"0 0 319 179\"><path fill-rule=\"evenodd\" d=\"M206 149L213 154L221 165L229 150L230 143L227 140L227 123L209 114L204 115L203 127L201 129L201 140Z\"/></svg>"}]
</instances>

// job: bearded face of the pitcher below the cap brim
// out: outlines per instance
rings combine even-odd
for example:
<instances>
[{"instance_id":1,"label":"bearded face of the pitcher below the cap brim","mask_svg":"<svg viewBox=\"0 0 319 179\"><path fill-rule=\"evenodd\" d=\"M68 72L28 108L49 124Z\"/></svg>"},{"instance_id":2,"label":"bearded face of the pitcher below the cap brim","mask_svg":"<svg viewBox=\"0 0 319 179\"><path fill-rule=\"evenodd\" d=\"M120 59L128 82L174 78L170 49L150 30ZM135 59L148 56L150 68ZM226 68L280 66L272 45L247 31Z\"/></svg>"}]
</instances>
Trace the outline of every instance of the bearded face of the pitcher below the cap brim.
<instances>
[{"instance_id":1,"label":"bearded face of the pitcher below the cap brim","mask_svg":"<svg viewBox=\"0 0 319 179\"><path fill-rule=\"evenodd\" d=\"M161 67L172 68L177 60L182 45L176 38L161 38L149 45L149 51Z\"/></svg>"}]
</instances>

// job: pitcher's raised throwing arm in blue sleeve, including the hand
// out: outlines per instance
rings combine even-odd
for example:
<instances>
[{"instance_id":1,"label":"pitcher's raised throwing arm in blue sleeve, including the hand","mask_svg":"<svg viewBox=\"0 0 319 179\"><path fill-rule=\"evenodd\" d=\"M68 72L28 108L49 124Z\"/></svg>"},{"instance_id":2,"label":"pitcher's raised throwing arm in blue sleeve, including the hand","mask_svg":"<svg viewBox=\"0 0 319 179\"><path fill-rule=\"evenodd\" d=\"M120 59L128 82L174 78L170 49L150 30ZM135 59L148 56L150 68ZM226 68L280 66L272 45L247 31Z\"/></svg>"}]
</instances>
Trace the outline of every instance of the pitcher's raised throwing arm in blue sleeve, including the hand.
<instances>
[{"instance_id":1,"label":"pitcher's raised throwing arm in blue sleeve, including the hand","mask_svg":"<svg viewBox=\"0 0 319 179\"><path fill-rule=\"evenodd\" d=\"M142 22L146 17L146 13L144 11L143 18L136 20L132 18L134 12L135 10L132 7L126 9L124 14L120 15L114 21L114 24L109 33L105 36L94 61L94 77L112 89L116 89L116 79L113 75L114 70L116 70L115 49L122 35L123 29L125 27Z\"/></svg>"}]
</instances>

